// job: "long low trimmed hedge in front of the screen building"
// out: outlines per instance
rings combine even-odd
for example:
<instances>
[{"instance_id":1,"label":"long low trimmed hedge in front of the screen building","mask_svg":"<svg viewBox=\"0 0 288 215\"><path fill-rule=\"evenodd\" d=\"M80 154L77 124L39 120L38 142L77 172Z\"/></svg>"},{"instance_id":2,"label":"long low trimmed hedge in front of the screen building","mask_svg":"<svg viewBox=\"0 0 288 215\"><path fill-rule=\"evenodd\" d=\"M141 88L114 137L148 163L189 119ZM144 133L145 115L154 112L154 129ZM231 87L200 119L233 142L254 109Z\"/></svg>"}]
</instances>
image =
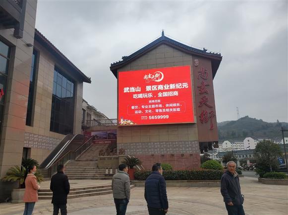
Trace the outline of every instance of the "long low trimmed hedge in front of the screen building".
<instances>
[{"instance_id":1,"label":"long low trimmed hedge in front of the screen building","mask_svg":"<svg viewBox=\"0 0 288 215\"><path fill-rule=\"evenodd\" d=\"M166 180L220 180L223 170L175 170L164 171L163 176ZM136 180L146 180L151 171L135 172Z\"/></svg>"}]
</instances>

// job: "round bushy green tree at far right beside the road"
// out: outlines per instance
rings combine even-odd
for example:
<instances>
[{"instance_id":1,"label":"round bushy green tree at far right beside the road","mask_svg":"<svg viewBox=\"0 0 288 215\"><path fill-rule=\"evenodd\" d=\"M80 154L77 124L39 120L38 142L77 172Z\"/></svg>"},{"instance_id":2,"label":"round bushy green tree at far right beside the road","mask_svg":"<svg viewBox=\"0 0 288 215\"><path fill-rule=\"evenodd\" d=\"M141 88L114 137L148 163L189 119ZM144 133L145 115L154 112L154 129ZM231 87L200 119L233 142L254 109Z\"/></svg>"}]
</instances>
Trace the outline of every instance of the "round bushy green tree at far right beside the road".
<instances>
[{"instance_id":1,"label":"round bushy green tree at far right beside the road","mask_svg":"<svg viewBox=\"0 0 288 215\"><path fill-rule=\"evenodd\" d=\"M278 144L270 140L260 141L254 150L256 157L256 172L262 177L266 172L273 172L278 169L277 157L282 156L281 148Z\"/></svg>"}]
</instances>

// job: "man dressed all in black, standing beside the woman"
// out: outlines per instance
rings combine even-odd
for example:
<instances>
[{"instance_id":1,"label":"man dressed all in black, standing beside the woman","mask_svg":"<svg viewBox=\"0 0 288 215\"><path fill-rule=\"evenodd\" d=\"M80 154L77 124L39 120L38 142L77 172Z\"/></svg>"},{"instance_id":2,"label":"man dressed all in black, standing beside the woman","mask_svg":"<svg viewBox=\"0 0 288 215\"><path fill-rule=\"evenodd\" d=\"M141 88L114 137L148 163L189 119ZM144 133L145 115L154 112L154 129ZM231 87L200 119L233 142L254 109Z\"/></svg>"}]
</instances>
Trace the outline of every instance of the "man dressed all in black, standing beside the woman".
<instances>
[{"instance_id":1,"label":"man dressed all in black, standing beside the woman","mask_svg":"<svg viewBox=\"0 0 288 215\"><path fill-rule=\"evenodd\" d=\"M64 174L63 165L57 167L57 173L52 176L50 189L53 192L53 215L58 215L59 209L61 215L67 215L67 195L70 191L70 184L67 175Z\"/></svg>"}]
</instances>

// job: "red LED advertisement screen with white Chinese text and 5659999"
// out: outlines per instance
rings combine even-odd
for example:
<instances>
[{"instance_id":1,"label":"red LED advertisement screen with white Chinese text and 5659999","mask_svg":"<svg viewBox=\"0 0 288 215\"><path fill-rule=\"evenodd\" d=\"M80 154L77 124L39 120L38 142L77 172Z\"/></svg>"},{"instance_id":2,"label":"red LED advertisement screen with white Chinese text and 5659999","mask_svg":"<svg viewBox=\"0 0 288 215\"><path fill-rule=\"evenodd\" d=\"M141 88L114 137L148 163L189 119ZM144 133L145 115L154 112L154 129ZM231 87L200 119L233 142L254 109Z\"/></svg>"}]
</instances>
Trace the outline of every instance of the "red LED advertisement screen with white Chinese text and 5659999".
<instances>
[{"instance_id":1,"label":"red LED advertisement screen with white Chinese text and 5659999","mask_svg":"<svg viewBox=\"0 0 288 215\"><path fill-rule=\"evenodd\" d=\"M194 123L190 66L118 73L118 125Z\"/></svg>"}]
</instances>

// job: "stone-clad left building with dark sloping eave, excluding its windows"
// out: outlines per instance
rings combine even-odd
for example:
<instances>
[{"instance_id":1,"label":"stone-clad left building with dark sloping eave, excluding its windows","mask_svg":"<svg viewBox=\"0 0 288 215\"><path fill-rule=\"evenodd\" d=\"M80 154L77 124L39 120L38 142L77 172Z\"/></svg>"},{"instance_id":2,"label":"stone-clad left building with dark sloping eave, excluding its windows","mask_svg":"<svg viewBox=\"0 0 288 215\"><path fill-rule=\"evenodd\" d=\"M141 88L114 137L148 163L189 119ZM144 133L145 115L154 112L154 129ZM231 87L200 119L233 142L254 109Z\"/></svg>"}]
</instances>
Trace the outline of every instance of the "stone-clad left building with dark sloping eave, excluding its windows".
<instances>
[{"instance_id":1,"label":"stone-clad left building with dark sloping eave, excluding its windows","mask_svg":"<svg viewBox=\"0 0 288 215\"><path fill-rule=\"evenodd\" d=\"M83 82L91 83L88 77L35 29L37 0L1 0L0 4L3 2L3 5L11 4L13 7L0 7L1 14L3 12L9 16L0 17L0 178L9 168L20 166L22 158L33 158L41 163L65 136L63 132L51 129L54 117L53 97L56 96L55 68L61 70L61 77L67 78L62 80L69 79L73 83L73 88L69 89L73 93L69 91L69 97L66 96L66 91L63 91L65 96L63 93L58 96L59 100L71 101L71 133L81 133ZM14 7L19 7L22 14L20 30L17 27L14 30L7 23L2 25L4 20L18 19L9 15L11 13L8 10ZM23 35L21 22L24 23ZM20 34L15 34L19 33L16 29ZM6 56L2 52L7 48L9 51ZM3 56L8 59L6 62L2 60ZM5 67L3 63L6 63L7 70L2 70ZM33 79L31 74L34 74ZM63 85L61 87L66 90ZM68 84L66 87L68 88ZM29 95L33 96L28 99ZM29 123L26 121L27 109L31 116ZM0 202L9 197L11 189L17 185L0 181Z\"/></svg>"}]
</instances>

